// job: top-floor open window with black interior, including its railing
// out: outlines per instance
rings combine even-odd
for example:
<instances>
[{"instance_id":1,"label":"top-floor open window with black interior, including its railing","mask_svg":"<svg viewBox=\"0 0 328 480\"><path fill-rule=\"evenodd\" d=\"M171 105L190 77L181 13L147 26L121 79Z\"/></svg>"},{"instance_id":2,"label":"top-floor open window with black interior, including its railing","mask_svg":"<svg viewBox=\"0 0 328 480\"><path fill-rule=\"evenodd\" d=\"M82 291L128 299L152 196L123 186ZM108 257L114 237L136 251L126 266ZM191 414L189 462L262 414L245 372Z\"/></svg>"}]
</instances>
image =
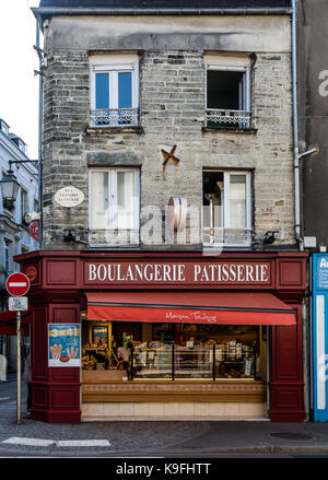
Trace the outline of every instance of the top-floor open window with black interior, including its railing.
<instances>
[{"instance_id":1,"label":"top-floor open window with black interior, including its railing","mask_svg":"<svg viewBox=\"0 0 328 480\"><path fill-rule=\"evenodd\" d=\"M250 127L249 59L206 57L208 127Z\"/></svg>"}]
</instances>

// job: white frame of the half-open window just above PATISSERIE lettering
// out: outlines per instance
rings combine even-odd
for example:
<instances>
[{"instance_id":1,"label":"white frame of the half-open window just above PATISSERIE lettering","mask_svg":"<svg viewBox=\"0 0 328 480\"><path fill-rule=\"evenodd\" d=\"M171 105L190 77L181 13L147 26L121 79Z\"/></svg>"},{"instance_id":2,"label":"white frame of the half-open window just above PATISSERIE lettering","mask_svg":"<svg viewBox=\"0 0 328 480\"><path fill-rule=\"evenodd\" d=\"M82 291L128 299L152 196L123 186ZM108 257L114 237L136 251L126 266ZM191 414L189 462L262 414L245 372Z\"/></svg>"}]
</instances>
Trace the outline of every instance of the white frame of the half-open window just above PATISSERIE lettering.
<instances>
[{"instance_id":1,"label":"white frame of the half-open window just above PATISSERIE lettering","mask_svg":"<svg viewBox=\"0 0 328 480\"><path fill-rule=\"evenodd\" d=\"M224 171L224 169L204 169L203 174L207 172L216 172L223 174L223 226L222 230L234 230L231 227L231 198L230 198L230 186L231 186L231 177L234 175L245 175L246 176L246 226L245 230L251 230L253 224L253 202L251 202L251 172L250 171ZM204 227L202 222L202 229ZM238 230L238 229L237 229ZM243 229L241 229L243 230ZM204 246L219 246L218 243L203 243ZM245 244L243 244L245 245ZM231 247L238 247L241 244L229 244ZM250 244L245 245L250 246ZM224 247L224 244L223 244Z\"/></svg>"}]
</instances>

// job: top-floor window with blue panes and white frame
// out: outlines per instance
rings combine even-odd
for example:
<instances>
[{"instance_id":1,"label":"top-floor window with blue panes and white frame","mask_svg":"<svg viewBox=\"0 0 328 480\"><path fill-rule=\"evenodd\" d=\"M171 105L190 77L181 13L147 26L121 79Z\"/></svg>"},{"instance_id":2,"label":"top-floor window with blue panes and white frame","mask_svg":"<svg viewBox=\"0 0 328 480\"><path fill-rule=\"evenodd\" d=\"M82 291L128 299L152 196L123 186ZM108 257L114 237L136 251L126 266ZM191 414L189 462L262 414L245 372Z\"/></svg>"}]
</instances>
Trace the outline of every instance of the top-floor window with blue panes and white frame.
<instances>
[{"instance_id":1,"label":"top-floor window with blue panes and white frame","mask_svg":"<svg viewBox=\"0 0 328 480\"><path fill-rule=\"evenodd\" d=\"M139 63L134 55L91 57L91 125L138 126Z\"/></svg>"}]
</instances>

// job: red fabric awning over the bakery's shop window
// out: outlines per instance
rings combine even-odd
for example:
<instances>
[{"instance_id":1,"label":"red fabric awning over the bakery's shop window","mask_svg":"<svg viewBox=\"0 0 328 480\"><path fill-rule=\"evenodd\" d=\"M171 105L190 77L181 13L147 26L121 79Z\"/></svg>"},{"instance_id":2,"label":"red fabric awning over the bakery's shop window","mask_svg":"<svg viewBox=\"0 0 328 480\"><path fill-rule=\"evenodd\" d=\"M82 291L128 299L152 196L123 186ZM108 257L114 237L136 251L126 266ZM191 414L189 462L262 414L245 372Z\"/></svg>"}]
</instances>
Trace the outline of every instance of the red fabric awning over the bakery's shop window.
<instances>
[{"instance_id":1,"label":"red fabric awning over the bakery's shop window","mask_svg":"<svg viewBox=\"0 0 328 480\"><path fill-rule=\"evenodd\" d=\"M295 311L271 293L112 291L87 292L90 320L293 325Z\"/></svg>"}]
</instances>

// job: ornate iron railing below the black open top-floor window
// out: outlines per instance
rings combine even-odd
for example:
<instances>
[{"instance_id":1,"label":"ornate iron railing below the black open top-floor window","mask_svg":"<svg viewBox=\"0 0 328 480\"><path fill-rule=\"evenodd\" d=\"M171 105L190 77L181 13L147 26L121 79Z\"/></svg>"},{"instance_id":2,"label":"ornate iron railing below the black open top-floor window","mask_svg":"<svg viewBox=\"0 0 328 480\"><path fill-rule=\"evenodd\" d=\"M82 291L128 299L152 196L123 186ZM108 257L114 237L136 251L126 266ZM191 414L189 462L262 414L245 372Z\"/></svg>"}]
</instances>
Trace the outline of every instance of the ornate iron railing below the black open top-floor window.
<instances>
[{"instance_id":1,"label":"ornate iron railing below the black open top-floor window","mask_svg":"<svg viewBox=\"0 0 328 480\"><path fill-rule=\"evenodd\" d=\"M250 128L250 110L226 110L207 108L206 110L206 126L216 128L235 128L249 129Z\"/></svg>"}]
</instances>

